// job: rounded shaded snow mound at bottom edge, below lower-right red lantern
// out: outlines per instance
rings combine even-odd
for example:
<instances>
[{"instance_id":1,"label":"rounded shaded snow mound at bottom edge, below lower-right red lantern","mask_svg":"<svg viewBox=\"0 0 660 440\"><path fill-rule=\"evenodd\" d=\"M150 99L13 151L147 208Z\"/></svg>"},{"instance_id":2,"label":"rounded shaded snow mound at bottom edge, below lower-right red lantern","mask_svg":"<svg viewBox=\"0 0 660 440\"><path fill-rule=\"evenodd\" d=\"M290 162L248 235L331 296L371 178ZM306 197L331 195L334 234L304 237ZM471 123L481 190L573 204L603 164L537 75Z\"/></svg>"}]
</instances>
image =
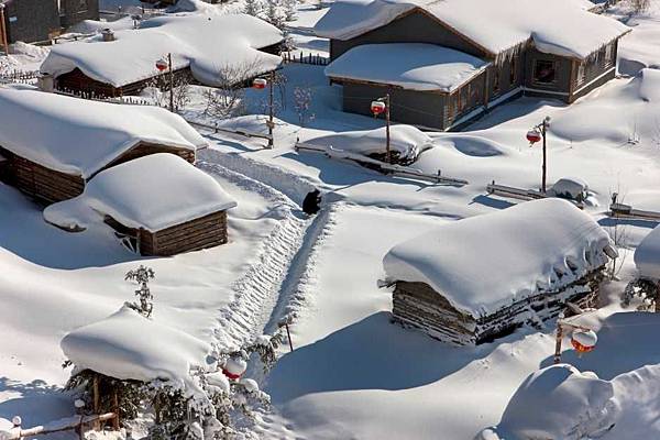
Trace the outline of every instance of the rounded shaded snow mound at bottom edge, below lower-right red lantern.
<instances>
[{"instance_id":1,"label":"rounded shaded snow mound at bottom edge, below lower-right red lantern","mask_svg":"<svg viewBox=\"0 0 660 440\"><path fill-rule=\"evenodd\" d=\"M497 428L475 440L584 440L612 429L619 411L610 382L568 364L552 365L531 374Z\"/></svg>"}]
</instances>

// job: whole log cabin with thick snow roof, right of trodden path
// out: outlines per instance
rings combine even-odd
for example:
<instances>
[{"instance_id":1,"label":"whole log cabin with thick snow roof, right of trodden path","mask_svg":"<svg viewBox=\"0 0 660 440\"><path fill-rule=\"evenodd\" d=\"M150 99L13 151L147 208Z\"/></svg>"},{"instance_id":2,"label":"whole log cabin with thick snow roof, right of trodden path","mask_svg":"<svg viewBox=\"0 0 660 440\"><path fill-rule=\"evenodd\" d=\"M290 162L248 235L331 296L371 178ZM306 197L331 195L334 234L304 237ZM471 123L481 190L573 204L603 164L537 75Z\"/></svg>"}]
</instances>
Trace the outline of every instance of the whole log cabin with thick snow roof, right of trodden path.
<instances>
[{"instance_id":1,"label":"whole log cabin with thick snow roof, right of trodden path","mask_svg":"<svg viewBox=\"0 0 660 440\"><path fill-rule=\"evenodd\" d=\"M566 302L596 307L607 232L569 201L541 199L443 224L384 258L393 316L457 344L554 318Z\"/></svg>"}]
</instances>

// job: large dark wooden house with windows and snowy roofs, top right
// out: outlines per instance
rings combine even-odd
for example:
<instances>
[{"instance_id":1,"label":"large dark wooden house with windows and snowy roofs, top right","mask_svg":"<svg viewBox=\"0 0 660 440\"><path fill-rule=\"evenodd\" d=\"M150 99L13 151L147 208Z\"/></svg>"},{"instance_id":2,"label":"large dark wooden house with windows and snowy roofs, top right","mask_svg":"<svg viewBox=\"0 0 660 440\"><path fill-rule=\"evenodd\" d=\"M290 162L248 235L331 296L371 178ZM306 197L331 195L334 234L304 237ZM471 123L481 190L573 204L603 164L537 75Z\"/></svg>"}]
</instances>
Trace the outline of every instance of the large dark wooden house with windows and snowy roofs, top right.
<instances>
[{"instance_id":1,"label":"large dark wooden house with windows and snowy roofs, top right","mask_svg":"<svg viewBox=\"0 0 660 440\"><path fill-rule=\"evenodd\" d=\"M394 121L450 130L522 95L573 102L614 78L630 29L581 0L341 0L315 31L344 111L389 94Z\"/></svg>"}]
</instances>

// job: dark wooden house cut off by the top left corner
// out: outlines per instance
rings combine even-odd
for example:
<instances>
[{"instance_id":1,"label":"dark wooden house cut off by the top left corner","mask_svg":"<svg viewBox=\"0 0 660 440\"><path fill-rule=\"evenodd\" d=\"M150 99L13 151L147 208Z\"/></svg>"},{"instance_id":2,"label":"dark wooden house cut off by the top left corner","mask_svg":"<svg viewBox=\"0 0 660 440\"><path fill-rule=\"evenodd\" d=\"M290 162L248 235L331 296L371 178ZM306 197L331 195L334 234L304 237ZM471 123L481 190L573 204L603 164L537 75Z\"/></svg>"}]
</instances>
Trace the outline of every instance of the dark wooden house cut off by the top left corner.
<instances>
[{"instance_id":1,"label":"dark wooden house cut off by the top left corner","mask_svg":"<svg viewBox=\"0 0 660 440\"><path fill-rule=\"evenodd\" d=\"M4 7L10 43L48 41L82 20L99 19L99 0L14 0Z\"/></svg>"}]
</instances>

